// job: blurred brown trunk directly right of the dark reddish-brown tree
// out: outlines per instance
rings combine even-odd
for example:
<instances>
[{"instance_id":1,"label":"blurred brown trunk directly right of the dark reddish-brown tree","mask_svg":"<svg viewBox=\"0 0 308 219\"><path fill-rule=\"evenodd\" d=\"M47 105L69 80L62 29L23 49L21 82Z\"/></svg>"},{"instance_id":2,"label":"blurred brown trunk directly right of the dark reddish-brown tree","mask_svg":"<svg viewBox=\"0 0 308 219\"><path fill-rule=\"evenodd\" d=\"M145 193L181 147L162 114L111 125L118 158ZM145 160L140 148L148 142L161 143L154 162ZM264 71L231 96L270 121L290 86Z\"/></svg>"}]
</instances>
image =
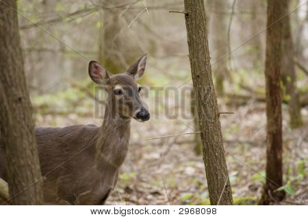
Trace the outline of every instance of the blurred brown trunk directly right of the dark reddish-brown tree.
<instances>
[{"instance_id":1,"label":"blurred brown trunk directly right of the dark reddish-brown tree","mask_svg":"<svg viewBox=\"0 0 308 219\"><path fill-rule=\"evenodd\" d=\"M289 12L289 1L284 5L283 14ZM290 99L289 114L290 114L290 127L296 128L303 125L302 116L300 115L300 101L296 88L296 73L294 64L294 46L292 41L290 16L283 19L283 38L282 38L282 68L281 77L283 81L283 94Z\"/></svg>"}]
</instances>

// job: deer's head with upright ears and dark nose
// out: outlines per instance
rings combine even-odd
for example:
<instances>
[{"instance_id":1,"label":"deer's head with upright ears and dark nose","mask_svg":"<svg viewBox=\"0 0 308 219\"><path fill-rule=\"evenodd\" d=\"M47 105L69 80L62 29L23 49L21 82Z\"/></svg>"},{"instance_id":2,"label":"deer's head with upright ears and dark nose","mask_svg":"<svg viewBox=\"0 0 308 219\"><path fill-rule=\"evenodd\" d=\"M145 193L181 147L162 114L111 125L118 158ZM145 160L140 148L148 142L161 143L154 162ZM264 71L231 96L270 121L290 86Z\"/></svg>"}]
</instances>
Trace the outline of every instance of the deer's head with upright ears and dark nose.
<instances>
[{"instance_id":1,"label":"deer's head with upright ears and dark nose","mask_svg":"<svg viewBox=\"0 0 308 219\"><path fill-rule=\"evenodd\" d=\"M139 96L141 87L136 83L144 74L145 66L146 54L132 64L125 73L117 75L108 73L98 62L89 63L90 78L107 91L107 105L112 108L114 118L135 118L139 122L149 120L149 111Z\"/></svg>"}]
</instances>

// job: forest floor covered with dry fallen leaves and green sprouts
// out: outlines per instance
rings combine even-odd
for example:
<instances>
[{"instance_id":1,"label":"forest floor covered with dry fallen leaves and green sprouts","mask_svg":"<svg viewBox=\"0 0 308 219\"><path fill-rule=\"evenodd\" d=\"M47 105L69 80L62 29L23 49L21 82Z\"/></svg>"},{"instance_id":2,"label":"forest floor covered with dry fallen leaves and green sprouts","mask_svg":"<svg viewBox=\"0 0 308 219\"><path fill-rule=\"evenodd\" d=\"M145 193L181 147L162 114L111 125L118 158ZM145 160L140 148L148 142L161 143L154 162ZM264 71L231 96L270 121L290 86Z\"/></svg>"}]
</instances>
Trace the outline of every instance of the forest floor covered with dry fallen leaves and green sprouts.
<instances>
[{"instance_id":1,"label":"forest floor covered with dry fallen leaves and green sprouts","mask_svg":"<svg viewBox=\"0 0 308 219\"><path fill-rule=\"evenodd\" d=\"M218 102L221 111L234 112L220 116L234 202L255 205L265 181L265 104L249 101L235 107L225 105L222 99ZM93 118L92 110L83 114L38 114L36 125L101 124L101 119ZM302 114L305 126L291 130L283 105L283 172L287 196L285 201L274 204L308 205L308 109L302 109ZM146 140L193 131L196 130L192 119L167 119L162 115L145 123L132 120L129 153L120 169L116 189L106 204L209 205L203 159L193 150L194 134Z\"/></svg>"}]
</instances>

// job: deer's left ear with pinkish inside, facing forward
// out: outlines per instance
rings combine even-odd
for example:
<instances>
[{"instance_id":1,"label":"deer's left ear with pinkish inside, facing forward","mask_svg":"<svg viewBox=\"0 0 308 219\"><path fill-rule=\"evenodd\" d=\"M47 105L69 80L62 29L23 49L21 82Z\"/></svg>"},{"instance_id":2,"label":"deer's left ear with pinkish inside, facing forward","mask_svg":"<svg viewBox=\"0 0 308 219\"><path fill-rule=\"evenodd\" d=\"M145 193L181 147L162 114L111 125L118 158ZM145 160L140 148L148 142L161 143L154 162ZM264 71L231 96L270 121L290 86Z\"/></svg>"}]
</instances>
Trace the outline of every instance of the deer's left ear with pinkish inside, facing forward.
<instances>
[{"instance_id":1,"label":"deer's left ear with pinkish inside, facing forward","mask_svg":"<svg viewBox=\"0 0 308 219\"><path fill-rule=\"evenodd\" d=\"M99 62L91 61L89 63L89 75L92 81L97 84L105 84L110 79L107 70Z\"/></svg>"}]
</instances>

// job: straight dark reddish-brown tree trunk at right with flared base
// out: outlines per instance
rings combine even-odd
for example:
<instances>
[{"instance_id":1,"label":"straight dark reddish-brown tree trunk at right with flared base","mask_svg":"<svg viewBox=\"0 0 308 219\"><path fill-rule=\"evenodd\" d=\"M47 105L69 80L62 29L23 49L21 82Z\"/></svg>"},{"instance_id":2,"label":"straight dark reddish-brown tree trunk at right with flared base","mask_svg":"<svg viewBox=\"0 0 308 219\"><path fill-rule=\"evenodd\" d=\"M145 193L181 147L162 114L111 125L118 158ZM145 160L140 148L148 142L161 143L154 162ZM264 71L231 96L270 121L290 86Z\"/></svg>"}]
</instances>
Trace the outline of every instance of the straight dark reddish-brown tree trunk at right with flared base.
<instances>
[{"instance_id":1,"label":"straight dark reddish-brown tree trunk at right with flared base","mask_svg":"<svg viewBox=\"0 0 308 219\"><path fill-rule=\"evenodd\" d=\"M282 22L274 23L284 14L287 0L268 0L268 23L266 31L266 184L259 201L268 205L281 201L285 193L276 192L283 185L283 142L281 116L281 37ZM270 26L270 27L269 27ZM274 200L273 200L274 199Z\"/></svg>"}]
</instances>

